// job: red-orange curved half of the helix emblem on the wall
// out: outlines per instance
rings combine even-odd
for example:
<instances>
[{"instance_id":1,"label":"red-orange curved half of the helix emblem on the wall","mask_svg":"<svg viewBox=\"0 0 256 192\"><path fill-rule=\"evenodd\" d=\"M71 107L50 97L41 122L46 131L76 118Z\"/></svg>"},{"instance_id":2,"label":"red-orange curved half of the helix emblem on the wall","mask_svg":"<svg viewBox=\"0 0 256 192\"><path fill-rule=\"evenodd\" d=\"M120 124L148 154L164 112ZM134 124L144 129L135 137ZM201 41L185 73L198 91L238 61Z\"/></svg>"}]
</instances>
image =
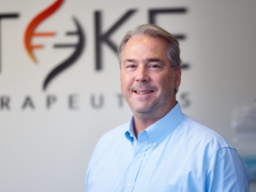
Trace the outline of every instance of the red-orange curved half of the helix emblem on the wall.
<instances>
[{"instance_id":1,"label":"red-orange curved half of the helix emblem on the wall","mask_svg":"<svg viewBox=\"0 0 256 192\"><path fill-rule=\"evenodd\" d=\"M47 17L52 15L63 3L64 0L57 0L55 3L53 3L51 6L49 6L47 9L45 9L43 12L39 13L30 23L29 26L26 29L25 32L25 38L24 43L26 50L29 54L29 57L32 59L34 63L36 63L36 59L32 53L33 49L42 49L43 45L41 44L31 44L31 38L32 37L42 37L42 36L54 36L55 32L34 32L35 28Z\"/></svg>"}]
</instances>

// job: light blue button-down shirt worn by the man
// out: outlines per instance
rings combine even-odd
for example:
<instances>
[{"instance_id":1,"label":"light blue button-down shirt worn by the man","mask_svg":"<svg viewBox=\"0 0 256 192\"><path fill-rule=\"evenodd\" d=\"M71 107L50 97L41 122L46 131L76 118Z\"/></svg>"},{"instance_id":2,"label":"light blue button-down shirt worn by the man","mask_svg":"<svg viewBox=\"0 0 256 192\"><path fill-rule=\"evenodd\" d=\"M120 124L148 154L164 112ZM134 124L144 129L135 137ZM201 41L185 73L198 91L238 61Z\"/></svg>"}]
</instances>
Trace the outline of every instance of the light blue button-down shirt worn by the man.
<instances>
[{"instance_id":1,"label":"light blue button-down shirt worn by the man","mask_svg":"<svg viewBox=\"0 0 256 192\"><path fill-rule=\"evenodd\" d=\"M134 118L108 131L91 157L87 192L249 192L238 152L177 105L134 136Z\"/></svg>"}]
</instances>

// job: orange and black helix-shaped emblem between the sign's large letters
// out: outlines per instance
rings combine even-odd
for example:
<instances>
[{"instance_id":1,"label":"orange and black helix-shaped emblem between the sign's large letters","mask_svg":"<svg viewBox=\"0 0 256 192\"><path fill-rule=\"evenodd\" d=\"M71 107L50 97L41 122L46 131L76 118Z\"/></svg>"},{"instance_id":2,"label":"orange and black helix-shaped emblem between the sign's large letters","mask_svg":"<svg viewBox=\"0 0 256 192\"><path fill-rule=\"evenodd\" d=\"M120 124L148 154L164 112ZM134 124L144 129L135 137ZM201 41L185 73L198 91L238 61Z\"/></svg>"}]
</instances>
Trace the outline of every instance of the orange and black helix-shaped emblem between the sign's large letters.
<instances>
[{"instance_id":1,"label":"orange and black helix-shaped emblem between the sign's large letters","mask_svg":"<svg viewBox=\"0 0 256 192\"><path fill-rule=\"evenodd\" d=\"M36 49L42 49L44 47L43 44L32 44L32 38L36 37L53 37L56 35L55 32L36 32L37 26L44 22L49 16L51 16L54 12L56 12L64 0L57 0L55 3L53 3L51 6L49 6L47 9L45 9L43 12L36 15L32 21L29 23L28 27L26 28L26 32L24 35L24 44L26 51L29 55L29 58L32 60L32 62L37 63L37 60L35 58L35 50ZM46 90L49 83L54 79L56 76L58 76L62 71L67 69L67 67L70 67L70 65L74 64L74 62L79 58L81 55L82 50L84 49L84 32L76 19L76 17L73 17L73 22L75 23L76 30L75 31L68 31L66 32L67 36L70 35L78 35L79 40L76 44L65 44L65 43L57 43L53 45L53 48L75 48L75 51L72 55L70 55L69 58L66 59L66 61L60 63L55 67L50 73L47 75L47 77L44 79L43 84L43 90Z\"/></svg>"}]
</instances>

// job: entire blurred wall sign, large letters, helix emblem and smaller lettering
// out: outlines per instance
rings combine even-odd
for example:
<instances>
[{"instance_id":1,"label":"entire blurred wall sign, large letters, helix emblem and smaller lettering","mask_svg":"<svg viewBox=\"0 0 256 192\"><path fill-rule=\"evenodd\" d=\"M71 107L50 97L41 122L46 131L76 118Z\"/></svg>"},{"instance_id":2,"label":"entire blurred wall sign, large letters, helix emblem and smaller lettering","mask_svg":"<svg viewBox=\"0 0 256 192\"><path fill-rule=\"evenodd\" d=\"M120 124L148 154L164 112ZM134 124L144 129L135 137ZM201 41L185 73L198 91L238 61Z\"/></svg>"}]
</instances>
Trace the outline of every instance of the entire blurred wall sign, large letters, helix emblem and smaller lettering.
<instances>
[{"instance_id":1,"label":"entire blurred wall sign, large letters, helix emblem and smaller lettering","mask_svg":"<svg viewBox=\"0 0 256 192\"><path fill-rule=\"evenodd\" d=\"M61 8L63 3L64 3L64 0L55 0L55 2L52 3L52 5L44 9L38 15L35 15L35 17L33 17L32 20L28 23L28 26L26 27L26 30L24 32L23 42L24 42L24 47L26 49L28 57L30 58L32 63L35 63L35 64L40 63L40 57L39 59L37 59L37 56L39 55L38 50L43 49L44 44L47 44L47 41L45 41L45 38L53 38L54 40L55 39L54 37L57 36L57 32L55 32L55 30L44 32L42 28L40 28L39 30L38 26L41 25L41 23L47 22L50 16L58 12L58 10ZM118 31L120 27L124 25L131 17L135 17L137 12L139 12L139 10L137 9L128 9L122 15L117 15L116 16L117 19L113 21L113 23L111 23L108 27L105 27L107 30L103 30L102 26L104 23L104 19L103 19L104 11L100 11L100 10L93 11L95 62L91 63L91 65L94 65L95 67L94 69L97 72L104 70L104 62L102 57L104 52L103 45L105 45L108 49L110 49L113 52L113 54L116 54L117 42L113 41L113 38L111 37L114 35L114 32ZM148 17L148 23L158 24L157 23L158 15L166 15L166 14L173 15L173 14L186 14L186 13L187 13L186 7L173 7L173 8L163 8L163 9L152 8L152 9L148 9L148 14L145 17ZM1 28L1 20L17 19L19 18L19 16L20 14L18 12L0 13L0 28ZM76 43L65 43L63 41L52 43L53 49L71 49L72 52L70 53L70 55L68 55L68 58L65 61L62 61L60 63L57 63L58 62L57 61L55 63L54 69L49 71L49 73L46 74L46 77L43 79L43 83L42 83L43 91L47 90L47 88L49 87L49 84L59 74L61 74L64 70L66 70L72 64L75 64L76 60L81 56L81 53L83 52L83 49L85 46L85 39L86 39L85 34L76 17L73 17L72 21L74 23L74 29L68 30L65 33L65 35L67 36L67 38L70 36L76 36L77 37ZM90 26L90 27L93 28L93 26ZM1 30L0 30L0 33L1 33ZM181 32L174 35L177 39L181 41L186 40L185 33ZM44 38L41 38L41 37L44 37ZM35 38L37 43L35 43L35 40L34 40ZM2 47L1 47L1 34L0 34L0 73L3 72L1 70L1 48ZM189 67L190 67L189 63L183 63L181 68L183 70L188 70ZM103 93L101 94L87 93L87 94L89 95L89 98L90 98L89 99L90 106L93 109L101 109L105 105L105 94ZM79 108L79 105L77 103L79 100L78 99L79 95L80 95L79 93L70 93L67 95L68 109L77 110ZM181 106L183 108L189 107L191 104L191 101L189 99L189 93L179 92L179 95L180 95L179 100L180 100ZM122 94L114 93L112 96L116 97L117 99L116 106L118 108L122 108L123 107ZM50 109L57 102L58 102L58 95L47 94L45 96L44 103L47 110ZM21 105L21 110L23 111L26 108L31 108L34 110L36 107L37 106L35 105L35 98L33 98L29 93L25 95ZM5 110L11 111L11 109L12 109L12 97L8 94L1 94L0 95L0 111L5 111Z\"/></svg>"}]
</instances>

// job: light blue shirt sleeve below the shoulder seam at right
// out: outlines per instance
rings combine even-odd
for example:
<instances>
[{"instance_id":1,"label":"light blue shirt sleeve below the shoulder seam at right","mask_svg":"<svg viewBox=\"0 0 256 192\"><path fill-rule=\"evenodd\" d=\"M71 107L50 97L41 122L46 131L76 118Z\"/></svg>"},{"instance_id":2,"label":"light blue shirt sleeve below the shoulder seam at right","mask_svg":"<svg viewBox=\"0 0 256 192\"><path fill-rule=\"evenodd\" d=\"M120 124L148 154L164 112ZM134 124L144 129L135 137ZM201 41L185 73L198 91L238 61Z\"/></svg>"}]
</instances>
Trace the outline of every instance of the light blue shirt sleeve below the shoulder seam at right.
<instances>
[{"instance_id":1,"label":"light blue shirt sleeve below the shoulder seam at right","mask_svg":"<svg viewBox=\"0 0 256 192\"><path fill-rule=\"evenodd\" d=\"M207 164L206 192L250 192L247 167L234 148L216 151Z\"/></svg>"}]
</instances>

